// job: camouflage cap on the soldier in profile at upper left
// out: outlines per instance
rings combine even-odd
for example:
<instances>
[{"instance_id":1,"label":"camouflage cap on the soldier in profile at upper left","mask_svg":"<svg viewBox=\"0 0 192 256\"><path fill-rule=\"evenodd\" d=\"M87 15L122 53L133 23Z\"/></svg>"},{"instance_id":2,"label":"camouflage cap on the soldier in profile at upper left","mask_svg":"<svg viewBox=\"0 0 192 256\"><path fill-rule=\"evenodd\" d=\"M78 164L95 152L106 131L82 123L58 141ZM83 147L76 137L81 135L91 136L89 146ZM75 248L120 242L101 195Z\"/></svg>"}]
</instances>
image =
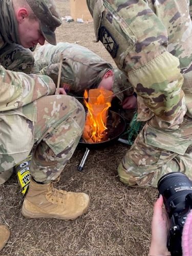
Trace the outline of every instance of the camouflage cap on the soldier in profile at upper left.
<instances>
[{"instance_id":1,"label":"camouflage cap on the soldier in profile at upper left","mask_svg":"<svg viewBox=\"0 0 192 256\"><path fill-rule=\"evenodd\" d=\"M26 0L40 21L40 30L45 39L56 45L55 29L62 24L60 14L53 0Z\"/></svg>"}]
</instances>

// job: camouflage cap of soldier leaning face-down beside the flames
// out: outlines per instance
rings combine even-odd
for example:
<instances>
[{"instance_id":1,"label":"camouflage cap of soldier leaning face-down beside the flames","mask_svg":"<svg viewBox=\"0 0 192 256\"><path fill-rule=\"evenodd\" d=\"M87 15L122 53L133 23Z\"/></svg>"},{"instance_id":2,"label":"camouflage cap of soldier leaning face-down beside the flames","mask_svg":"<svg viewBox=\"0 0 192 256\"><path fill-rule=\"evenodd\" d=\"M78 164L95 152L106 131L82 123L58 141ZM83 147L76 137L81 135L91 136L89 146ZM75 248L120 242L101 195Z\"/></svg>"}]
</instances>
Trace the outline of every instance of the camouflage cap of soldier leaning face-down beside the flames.
<instances>
[{"instance_id":1,"label":"camouflage cap of soldier leaning face-down beside the flames","mask_svg":"<svg viewBox=\"0 0 192 256\"><path fill-rule=\"evenodd\" d=\"M125 73L117 68L114 69L114 83L112 90L114 94L116 94L116 97L121 101L121 103L124 99L124 95L129 96L134 92L133 86Z\"/></svg>"}]
</instances>

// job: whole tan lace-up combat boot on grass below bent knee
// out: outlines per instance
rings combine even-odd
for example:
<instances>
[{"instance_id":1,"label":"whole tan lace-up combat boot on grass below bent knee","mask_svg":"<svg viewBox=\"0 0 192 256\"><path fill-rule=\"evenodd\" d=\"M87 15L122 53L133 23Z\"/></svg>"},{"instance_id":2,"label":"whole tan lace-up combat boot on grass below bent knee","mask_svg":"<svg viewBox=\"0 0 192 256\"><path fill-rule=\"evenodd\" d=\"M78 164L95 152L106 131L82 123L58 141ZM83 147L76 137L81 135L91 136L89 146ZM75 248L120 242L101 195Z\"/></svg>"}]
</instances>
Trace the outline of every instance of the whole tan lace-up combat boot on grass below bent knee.
<instances>
[{"instance_id":1,"label":"whole tan lace-up combat boot on grass below bent knee","mask_svg":"<svg viewBox=\"0 0 192 256\"><path fill-rule=\"evenodd\" d=\"M58 190L49 184L38 184L31 179L24 199L22 214L26 218L54 218L74 220L84 214L90 198L84 193Z\"/></svg>"}]
</instances>

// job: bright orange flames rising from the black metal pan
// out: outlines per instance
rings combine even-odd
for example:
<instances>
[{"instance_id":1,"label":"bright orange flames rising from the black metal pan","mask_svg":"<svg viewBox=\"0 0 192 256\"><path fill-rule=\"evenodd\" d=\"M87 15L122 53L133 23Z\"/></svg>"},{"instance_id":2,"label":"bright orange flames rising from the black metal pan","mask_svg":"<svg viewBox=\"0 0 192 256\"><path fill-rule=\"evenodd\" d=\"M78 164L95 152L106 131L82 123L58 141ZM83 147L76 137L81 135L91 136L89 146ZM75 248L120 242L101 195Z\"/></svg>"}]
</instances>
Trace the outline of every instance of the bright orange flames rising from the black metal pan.
<instances>
[{"instance_id":1,"label":"bright orange flames rising from the black metal pan","mask_svg":"<svg viewBox=\"0 0 192 256\"><path fill-rule=\"evenodd\" d=\"M82 137L86 142L95 143L104 139L112 95L112 91L103 88L91 89L89 94L87 90L84 91L84 103L88 108L88 114Z\"/></svg>"}]
</instances>

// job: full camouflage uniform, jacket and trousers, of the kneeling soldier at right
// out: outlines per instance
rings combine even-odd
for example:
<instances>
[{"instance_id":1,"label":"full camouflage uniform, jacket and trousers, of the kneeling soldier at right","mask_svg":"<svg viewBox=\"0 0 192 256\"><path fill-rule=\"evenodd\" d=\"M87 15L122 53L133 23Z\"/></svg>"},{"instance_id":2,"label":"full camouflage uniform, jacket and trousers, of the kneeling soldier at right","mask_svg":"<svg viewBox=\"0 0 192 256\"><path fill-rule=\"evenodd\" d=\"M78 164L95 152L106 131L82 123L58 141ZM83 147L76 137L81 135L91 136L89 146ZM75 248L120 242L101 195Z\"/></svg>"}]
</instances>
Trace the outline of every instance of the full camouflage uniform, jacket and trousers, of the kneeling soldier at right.
<instances>
[{"instance_id":1,"label":"full camouflage uniform, jacket and trousers, of the kneeling soldier at right","mask_svg":"<svg viewBox=\"0 0 192 256\"><path fill-rule=\"evenodd\" d=\"M138 95L146 121L123 157L120 180L157 186L168 172L192 179L191 19L189 0L87 0L100 40Z\"/></svg>"}]
</instances>

